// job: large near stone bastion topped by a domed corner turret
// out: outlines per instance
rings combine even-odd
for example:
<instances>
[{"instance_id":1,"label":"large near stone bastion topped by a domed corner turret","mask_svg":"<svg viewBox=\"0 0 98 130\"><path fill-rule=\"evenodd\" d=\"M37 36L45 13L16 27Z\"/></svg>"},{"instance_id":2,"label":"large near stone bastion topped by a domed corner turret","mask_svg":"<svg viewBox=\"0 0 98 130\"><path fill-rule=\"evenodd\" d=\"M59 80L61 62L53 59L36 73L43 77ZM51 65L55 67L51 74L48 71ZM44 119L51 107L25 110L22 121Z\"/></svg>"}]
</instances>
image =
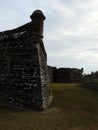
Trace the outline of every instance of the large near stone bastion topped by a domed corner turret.
<instances>
[{"instance_id":1,"label":"large near stone bastion topped by a domed corner turret","mask_svg":"<svg viewBox=\"0 0 98 130\"><path fill-rule=\"evenodd\" d=\"M36 10L30 17L30 23L0 33L0 104L43 110L52 99L42 41L45 16Z\"/></svg>"}]
</instances>

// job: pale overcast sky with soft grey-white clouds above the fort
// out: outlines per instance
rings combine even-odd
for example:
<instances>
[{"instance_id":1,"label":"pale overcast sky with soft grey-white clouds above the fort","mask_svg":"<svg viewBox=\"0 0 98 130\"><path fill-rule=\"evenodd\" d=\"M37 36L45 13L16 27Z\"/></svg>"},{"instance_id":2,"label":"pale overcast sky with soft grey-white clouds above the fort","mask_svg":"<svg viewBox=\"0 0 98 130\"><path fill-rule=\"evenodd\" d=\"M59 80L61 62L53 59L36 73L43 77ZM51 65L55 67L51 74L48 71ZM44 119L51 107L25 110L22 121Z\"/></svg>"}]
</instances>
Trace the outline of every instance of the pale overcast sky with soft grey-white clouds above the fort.
<instances>
[{"instance_id":1,"label":"pale overcast sky with soft grey-white clouds above the fort","mask_svg":"<svg viewBox=\"0 0 98 130\"><path fill-rule=\"evenodd\" d=\"M46 16L48 64L97 71L98 0L0 0L0 31L30 22L36 9Z\"/></svg>"}]
</instances>

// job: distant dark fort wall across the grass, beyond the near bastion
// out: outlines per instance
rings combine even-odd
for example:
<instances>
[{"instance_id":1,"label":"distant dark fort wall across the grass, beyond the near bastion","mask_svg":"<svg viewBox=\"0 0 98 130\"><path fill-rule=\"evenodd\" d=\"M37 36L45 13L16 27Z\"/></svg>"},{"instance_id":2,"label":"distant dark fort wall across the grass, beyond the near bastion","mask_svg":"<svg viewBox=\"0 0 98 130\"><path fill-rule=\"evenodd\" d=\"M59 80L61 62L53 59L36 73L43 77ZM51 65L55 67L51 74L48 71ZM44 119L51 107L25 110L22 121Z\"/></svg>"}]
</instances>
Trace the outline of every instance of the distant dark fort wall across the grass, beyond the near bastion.
<instances>
[{"instance_id":1,"label":"distant dark fort wall across the grass, beyond the near bastion","mask_svg":"<svg viewBox=\"0 0 98 130\"><path fill-rule=\"evenodd\" d=\"M56 68L48 66L48 73L51 83L79 83L83 78L83 68Z\"/></svg>"}]
</instances>

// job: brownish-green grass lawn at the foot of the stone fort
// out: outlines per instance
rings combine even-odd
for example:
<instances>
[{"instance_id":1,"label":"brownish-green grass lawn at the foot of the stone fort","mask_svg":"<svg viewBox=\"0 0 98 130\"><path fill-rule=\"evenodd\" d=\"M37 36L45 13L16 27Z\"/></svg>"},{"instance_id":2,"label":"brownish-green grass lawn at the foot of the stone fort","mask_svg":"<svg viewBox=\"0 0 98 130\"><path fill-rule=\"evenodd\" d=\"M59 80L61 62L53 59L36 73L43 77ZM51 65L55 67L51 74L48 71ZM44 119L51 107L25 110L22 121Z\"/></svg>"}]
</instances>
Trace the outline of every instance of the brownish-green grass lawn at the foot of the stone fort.
<instances>
[{"instance_id":1,"label":"brownish-green grass lawn at the foot of the stone fort","mask_svg":"<svg viewBox=\"0 0 98 130\"><path fill-rule=\"evenodd\" d=\"M44 112L0 107L0 130L98 130L98 91L78 84L52 84Z\"/></svg>"}]
</instances>

